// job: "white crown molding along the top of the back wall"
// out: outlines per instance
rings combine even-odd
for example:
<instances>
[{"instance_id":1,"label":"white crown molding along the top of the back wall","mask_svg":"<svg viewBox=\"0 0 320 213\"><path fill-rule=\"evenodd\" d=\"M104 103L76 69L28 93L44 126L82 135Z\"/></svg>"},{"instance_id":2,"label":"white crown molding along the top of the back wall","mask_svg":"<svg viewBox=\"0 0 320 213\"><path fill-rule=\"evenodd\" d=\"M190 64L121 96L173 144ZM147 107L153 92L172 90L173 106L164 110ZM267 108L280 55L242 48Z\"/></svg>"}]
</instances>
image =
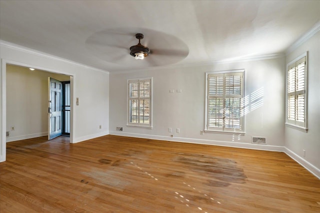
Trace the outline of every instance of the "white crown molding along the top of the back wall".
<instances>
[{"instance_id":1,"label":"white crown molding along the top of the back wall","mask_svg":"<svg viewBox=\"0 0 320 213\"><path fill-rule=\"evenodd\" d=\"M246 61L267 60L267 59L280 58L284 56L285 56L284 53L240 56L240 57L226 58L222 60L212 60L212 61L202 61L202 62L188 63L188 64L175 64L175 65L167 65L167 66L148 67L148 68L128 70L128 71L114 71L114 72L110 72L110 75L129 74L134 72L144 72L144 71L151 71L151 70L158 70L158 69L173 69L173 68L184 68L184 67L209 66L209 65L224 64L224 63L238 63L238 62L246 62Z\"/></svg>"}]
</instances>

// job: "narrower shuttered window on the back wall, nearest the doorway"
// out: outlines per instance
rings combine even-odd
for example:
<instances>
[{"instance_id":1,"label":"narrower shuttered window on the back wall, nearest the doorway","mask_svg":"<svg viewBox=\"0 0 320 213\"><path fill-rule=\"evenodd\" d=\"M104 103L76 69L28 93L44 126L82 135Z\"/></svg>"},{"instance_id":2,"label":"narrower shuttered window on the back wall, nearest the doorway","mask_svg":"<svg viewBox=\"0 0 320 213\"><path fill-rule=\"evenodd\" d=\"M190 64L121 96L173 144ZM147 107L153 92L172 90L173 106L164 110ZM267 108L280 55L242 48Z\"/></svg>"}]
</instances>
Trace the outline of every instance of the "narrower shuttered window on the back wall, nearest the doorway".
<instances>
[{"instance_id":1,"label":"narrower shuttered window on the back wall, nearest the doorway","mask_svg":"<svg viewBox=\"0 0 320 213\"><path fill-rule=\"evenodd\" d=\"M128 126L152 127L151 78L128 80Z\"/></svg>"}]
</instances>

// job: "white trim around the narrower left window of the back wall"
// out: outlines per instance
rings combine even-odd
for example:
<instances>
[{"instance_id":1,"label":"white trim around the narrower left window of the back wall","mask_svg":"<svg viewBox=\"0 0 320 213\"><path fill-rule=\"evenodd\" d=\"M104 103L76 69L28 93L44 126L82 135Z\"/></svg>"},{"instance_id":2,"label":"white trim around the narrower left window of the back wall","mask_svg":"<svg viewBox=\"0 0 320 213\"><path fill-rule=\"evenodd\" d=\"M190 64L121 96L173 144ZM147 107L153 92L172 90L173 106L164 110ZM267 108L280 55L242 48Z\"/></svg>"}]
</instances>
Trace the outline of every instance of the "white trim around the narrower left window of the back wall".
<instances>
[{"instance_id":1,"label":"white trim around the narrower left window of the back wall","mask_svg":"<svg viewBox=\"0 0 320 213\"><path fill-rule=\"evenodd\" d=\"M129 82L130 81L139 81L139 80L150 80L150 108L149 108L149 124L141 123L129 123ZM143 78L130 78L126 81L126 126L127 127L139 127L145 129L152 129L152 77L143 77Z\"/></svg>"}]
</instances>

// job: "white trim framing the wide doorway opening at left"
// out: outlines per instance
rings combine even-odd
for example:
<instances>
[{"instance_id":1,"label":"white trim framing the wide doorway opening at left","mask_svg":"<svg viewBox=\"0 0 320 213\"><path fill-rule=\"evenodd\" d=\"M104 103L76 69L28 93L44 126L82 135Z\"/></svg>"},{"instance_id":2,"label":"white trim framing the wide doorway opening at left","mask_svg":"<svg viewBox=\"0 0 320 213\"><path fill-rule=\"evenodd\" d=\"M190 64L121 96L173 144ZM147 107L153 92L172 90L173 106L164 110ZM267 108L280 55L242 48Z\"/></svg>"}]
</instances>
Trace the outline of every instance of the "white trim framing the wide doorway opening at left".
<instances>
[{"instance_id":1,"label":"white trim framing the wide doorway opening at left","mask_svg":"<svg viewBox=\"0 0 320 213\"><path fill-rule=\"evenodd\" d=\"M75 100L74 100L74 84L75 84L75 73L50 69L46 67L40 67L35 64L27 64L27 63L21 63L17 61L12 60L1 60L1 69L0 69L0 81L1 81L1 87L0 87L0 162L5 161L6 159L6 65L12 64L17 66L24 66L24 67L32 67L37 70L41 70L43 72L52 72L57 74L64 74L70 76L70 143L75 143L75 137L74 137L74 131L75 126L74 124L74 106L75 106Z\"/></svg>"}]
</instances>

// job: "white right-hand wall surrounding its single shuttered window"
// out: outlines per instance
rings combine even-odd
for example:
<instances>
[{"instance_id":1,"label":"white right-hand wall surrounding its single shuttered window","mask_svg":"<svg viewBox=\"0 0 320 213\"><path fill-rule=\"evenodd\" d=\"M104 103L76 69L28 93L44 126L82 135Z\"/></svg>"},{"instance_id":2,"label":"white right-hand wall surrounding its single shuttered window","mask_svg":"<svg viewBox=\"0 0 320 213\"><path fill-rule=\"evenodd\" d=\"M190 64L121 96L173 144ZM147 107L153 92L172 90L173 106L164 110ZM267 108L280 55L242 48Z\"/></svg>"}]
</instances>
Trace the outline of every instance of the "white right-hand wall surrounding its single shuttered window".
<instances>
[{"instance_id":1,"label":"white right-hand wall surrounding its single shuttered window","mask_svg":"<svg viewBox=\"0 0 320 213\"><path fill-rule=\"evenodd\" d=\"M286 152L320 177L320 31L286 56L286 63L308 51L307 133L285 127ZM303 157L305 150L305 157Z\"/></svg>"}]
</instances>

